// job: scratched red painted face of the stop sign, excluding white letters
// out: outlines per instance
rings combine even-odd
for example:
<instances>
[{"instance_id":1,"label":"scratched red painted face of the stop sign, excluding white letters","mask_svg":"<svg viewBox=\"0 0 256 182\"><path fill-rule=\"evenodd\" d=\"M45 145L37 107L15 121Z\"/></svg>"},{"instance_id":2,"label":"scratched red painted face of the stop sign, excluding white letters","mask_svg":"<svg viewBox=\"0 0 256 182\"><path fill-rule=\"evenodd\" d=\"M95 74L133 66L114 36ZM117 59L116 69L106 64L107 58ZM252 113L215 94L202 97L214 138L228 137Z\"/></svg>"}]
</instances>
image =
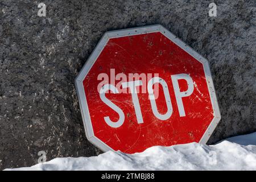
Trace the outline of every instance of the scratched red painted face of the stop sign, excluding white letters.
<instances>
[{"instance_id":1,"label":"scratched red painted face of the stop sign, excluding white letters","mask_svg":"<svg viewBox=\"0 0 256 182\"><path fill-rule=\"evenodd\" d=\"M118 119L118 114L100 99L97 80L100 73L159 73L168 85L173 113L170 119L160 121L152 113L148 93L138 93L144 123L138 123L130 93L107 93L106 97L125 113L121 127L113 128L105 116ZM186 116L177 110L171 75L186 73L194 81L191 96L183 98ZM109 75L110 77L110 75ZM171 42L160 32L111 38L85 77L84 90L88 102L94 135L113 150L126 153L141 152L151 146L199 142L213 119L207 80L203 64ZM185 81L179 81L180 90L186 90ZM156 100L160 113L166 113L166 101L160 86Z\"/></svg>"}]
</instances>

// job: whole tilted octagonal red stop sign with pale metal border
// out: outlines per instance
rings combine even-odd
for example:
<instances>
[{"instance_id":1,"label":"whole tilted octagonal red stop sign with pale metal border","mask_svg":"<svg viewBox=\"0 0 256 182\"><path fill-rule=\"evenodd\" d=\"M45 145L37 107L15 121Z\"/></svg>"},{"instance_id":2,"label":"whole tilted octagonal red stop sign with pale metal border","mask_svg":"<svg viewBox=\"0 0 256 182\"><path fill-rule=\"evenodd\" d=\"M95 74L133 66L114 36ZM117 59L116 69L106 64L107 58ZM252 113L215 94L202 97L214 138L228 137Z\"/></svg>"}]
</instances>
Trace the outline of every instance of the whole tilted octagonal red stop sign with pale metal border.
<instances>
[{"instance_id":1,"label":"whole tilted octagonal red stop sign with pale metal border","mask_svg":"<svg viewBox=\"0 0 256 182\"><path fill-rule=\"evenodd\" d=\"M102 151L207 143L221 118L208 61L160 25L106 32L76 88Z\"/></svg>"}]
</instances>

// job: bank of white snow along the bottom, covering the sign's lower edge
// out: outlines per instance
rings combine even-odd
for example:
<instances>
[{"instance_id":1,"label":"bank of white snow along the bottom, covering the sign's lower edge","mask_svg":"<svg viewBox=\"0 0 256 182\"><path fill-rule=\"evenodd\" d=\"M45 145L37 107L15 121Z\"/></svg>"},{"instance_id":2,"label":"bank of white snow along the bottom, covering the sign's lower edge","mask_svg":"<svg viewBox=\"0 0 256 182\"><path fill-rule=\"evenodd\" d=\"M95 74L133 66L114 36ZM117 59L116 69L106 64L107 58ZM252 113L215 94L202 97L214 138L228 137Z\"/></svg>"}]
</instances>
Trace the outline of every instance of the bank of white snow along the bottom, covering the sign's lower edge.
<instances>
[{"instance_id":1,"label":"bank of white snow along the bottom, covering the sign's lower edge","mask_svg":"<svg viewBox=\"0 0 256 182\"><path fill-rule=\"evenodd\" d=\"M256 133L228 138L212 146L155 146L131 155L109 151L89 158L56 158L7 170L256 170Z\"/></svg>"}]
</instances>

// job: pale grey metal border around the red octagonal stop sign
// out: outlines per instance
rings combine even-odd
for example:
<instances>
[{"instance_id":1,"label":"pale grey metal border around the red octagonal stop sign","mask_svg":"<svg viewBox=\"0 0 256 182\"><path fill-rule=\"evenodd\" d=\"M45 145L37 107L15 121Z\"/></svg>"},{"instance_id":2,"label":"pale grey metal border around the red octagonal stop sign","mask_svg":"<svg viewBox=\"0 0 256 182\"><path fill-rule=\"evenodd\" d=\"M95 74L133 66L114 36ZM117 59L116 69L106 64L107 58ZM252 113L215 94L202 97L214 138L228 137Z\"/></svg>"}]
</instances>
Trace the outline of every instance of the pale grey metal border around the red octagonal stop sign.
<instances>
[{"instance_id":1,"label":"pale grey metal border around the red octagonal stop sign","mask_svg":"<svg viewBox=\"0 0 256 182\"><path fill-rule=\"evenodd\" d=\"M203 64L205 78L207 80L208 90L210 94L210 101L212 102L213 107L213 119L210 122L207 130L205 131L203 137L200 139L199 143L206 144L210 135L212 135L213 130L218 125L218 122L221 119L220 109L218 107L216 92L213 85L212 76L210 73L210 68L207 59L203 56L199 55L196 51L194 51L191 47L187 46L184 42L178 39L174 34L168 31L166 28L161 26L160 24L152 25L152 26L143 26L143 27L136 27L136 28L128 28L123 30L116 30L116 31L108 31L106 32L100 42L98 42L96 48L90 55L89 59L86 61L84 67L82 67L79 75L75 79L75 85L77 90L77 95L79 97L79 104L80 110L82 115L82 121L84 123L85 134L89 142L100 148L102 151L106 152L109 150L114 151L111 147L109 147L106 143L102 142L93 133L92 122L90 121L90 114L88 109L88 104L85 96L84 85L82 81L92 68L93 64L96 62L98 56L101 54L101 51L104 49L106 44L108 43L109 39L111 38L119 38L122 36L131 36L131 35L140 35L140 34L148 34L151 32L161 32L164 36L174 42L177 46L183 49L185 52L189 53L192 57L194 57L197 61Z\"/></svg>"}]
</instances>

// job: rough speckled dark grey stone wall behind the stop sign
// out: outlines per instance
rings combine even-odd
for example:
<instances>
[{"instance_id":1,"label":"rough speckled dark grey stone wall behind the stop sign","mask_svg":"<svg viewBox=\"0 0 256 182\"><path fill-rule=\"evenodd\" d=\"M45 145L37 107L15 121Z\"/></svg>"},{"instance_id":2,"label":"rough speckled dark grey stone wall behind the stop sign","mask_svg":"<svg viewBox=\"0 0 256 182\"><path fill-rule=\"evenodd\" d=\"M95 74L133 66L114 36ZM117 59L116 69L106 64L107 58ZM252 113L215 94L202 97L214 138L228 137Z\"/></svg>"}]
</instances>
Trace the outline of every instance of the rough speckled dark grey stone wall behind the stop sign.
<instances>
[{"instance_id":1,"label":"rough speckled dark grey stone wall behind the stop sign","mask_svg":"<svg viewBox=\"0 0 256 182\"><path fill-rule=\"evenodd\" d=\"M39 17L38 4L47 5ZM256 131L256 1L0 1L0 169L93 156L74 80L104 32L162 24L210 63L222 119L209 144ZM217 17L209 17L209 3Z\"/></svg>"}]
</instances>

